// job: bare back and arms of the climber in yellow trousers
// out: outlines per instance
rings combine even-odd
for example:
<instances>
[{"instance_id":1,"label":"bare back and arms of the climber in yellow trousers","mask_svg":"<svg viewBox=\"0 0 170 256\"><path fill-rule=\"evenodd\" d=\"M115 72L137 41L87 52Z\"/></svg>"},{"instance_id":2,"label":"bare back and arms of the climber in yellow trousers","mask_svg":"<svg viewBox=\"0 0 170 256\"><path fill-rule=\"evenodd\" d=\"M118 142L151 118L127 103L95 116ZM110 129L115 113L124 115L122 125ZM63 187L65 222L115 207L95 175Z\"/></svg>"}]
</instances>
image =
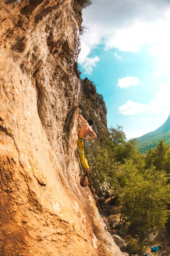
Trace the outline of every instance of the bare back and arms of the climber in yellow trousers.
<instances>
[{"instance_id":1,"label":"bare back and arms of the climber in yellow trousers","mask_svg":"<svg viewBox=\"0 0 170 256\"><path fill-rule=\"evenodd\" d=\"M97 136L93 131L93 129L88 124L88 122L81 115L79 115L79 118L82 121L82 127L79 130L79 138L85 138L88 134L91 134L92 137L87 137L86 140L96 139Z\"/></svg>"}]
</instances>

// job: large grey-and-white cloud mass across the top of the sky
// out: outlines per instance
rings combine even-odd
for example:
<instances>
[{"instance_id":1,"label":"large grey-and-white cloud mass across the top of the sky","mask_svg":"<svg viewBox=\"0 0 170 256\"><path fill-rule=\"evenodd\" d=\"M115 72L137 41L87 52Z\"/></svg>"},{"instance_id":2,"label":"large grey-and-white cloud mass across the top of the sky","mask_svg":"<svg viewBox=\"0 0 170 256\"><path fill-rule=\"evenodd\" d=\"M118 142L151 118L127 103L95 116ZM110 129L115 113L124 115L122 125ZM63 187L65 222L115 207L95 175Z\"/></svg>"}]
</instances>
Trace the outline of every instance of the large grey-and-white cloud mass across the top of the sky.
<instances>
[{"instance_id":1,"label":"large grey-and-white cloud mass across the top of the sky","mask_svg":"<svg viewBox=\"0 0 170 256\"><path fill-rule=\"evenodd\" d=\"M154 76L164 70L170 73L169 0L93 0L83 11L83 22L90 30L82 35L80 64L99 44L125 52L137 52L145 45L156 56Z\"/></svg>"}]
</instances>

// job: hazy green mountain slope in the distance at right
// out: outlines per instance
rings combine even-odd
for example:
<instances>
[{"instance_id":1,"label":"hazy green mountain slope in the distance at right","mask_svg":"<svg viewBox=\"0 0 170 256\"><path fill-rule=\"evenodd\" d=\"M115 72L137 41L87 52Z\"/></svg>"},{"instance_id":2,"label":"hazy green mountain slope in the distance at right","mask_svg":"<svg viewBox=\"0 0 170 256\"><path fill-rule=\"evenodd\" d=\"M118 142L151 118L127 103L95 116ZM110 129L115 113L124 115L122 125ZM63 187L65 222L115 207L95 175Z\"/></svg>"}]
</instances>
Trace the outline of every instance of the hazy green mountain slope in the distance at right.
<instances>
[{"instance_id":1,"label":"hazy green mountain slope in the distance at right","mask_svg":"<svg viewBox=\"0 0 170 256\"><path fill-rule=\"evenodd\" d=\"M166 145L170 143L170 115L168 116L167 121L158 129L137 138L137 148L140 153L146 153L150 148L156 148L156 145L162 139Z\"/></svg>"}]
</instances>

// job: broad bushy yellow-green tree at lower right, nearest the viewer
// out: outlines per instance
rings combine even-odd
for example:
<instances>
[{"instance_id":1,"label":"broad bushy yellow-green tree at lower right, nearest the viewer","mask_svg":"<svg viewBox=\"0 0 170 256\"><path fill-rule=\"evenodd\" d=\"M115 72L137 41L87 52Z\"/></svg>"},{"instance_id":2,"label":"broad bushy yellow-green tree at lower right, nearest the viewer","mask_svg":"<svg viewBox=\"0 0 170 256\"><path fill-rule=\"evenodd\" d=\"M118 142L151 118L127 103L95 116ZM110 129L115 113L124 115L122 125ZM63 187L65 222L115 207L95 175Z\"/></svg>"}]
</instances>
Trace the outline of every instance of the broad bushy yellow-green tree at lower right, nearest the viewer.
<instances>
[{"instance_id":1,"label":"broad bushy yellow-green tree at lower right, nearest the viewer","mask_svg":"<svg viewBox=\"0 0 170 256\"><path fill-rule=\"evenodd\" d=\"M120 221L138 224L141 230L164 226L170 202L169 177L164 171L151 167L140 173L130 160L117 168L114 179L116 195L122 207Z\"/></svg>"}]
</instances>

